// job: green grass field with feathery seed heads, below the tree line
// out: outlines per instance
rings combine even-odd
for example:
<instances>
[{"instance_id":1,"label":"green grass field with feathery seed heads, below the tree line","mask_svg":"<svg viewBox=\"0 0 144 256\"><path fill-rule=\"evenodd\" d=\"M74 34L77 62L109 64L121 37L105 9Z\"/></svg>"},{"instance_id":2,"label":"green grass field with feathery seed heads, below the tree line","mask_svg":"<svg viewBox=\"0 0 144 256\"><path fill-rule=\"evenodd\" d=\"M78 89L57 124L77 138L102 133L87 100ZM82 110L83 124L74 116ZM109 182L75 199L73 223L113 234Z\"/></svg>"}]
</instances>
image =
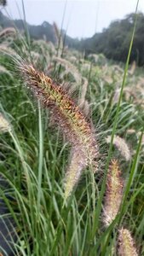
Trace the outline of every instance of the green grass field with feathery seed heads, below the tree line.
<instances>
[{"instance_id":1,"label":"green grass field with feathery seed heads, below the tree line","mask_svg":"<svg viewBox=\"0 0 144 256\"><path fill-rule=\"evenodd\" d=\"M84 59L62 40L30 42L14 31L1 37L0 50L0 175L7 183L0 195L9 209L1 218L14 223L7 228L14 255L143 255L143 69L104 55ZM87 133L75 128L77 113L64 131L57 108L47 108L32 89L35 80L24 71L29 64L54 79L80 109L82 126L89 124L98 148L94 165L93 159L84 162L78 138ZM124 229L133 238L124 238Z\"/></svg>"}]
</instances>

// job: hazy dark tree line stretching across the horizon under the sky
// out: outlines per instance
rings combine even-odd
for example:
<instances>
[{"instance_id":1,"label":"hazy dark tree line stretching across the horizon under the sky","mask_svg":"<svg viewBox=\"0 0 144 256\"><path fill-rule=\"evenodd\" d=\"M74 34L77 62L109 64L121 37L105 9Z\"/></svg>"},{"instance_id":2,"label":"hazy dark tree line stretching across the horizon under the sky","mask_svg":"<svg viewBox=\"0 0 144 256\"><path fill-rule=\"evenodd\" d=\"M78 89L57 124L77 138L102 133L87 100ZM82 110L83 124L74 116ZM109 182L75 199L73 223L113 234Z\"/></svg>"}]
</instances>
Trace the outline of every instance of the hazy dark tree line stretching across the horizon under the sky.
<instances>
[{"instance_id":1,"label":"hazy dark tree line stretching across the horizon under the sky","mask_svg":"<svg viewBox=\"0 0 144 256\"><path fill-rule=\"evenodd\" d=\"M92 38L71 38L66 35L64 30L61 36L64 44L72 49L78 49L89 54L104 54L108 59L114 61L126 61L127 53L130 47L130 36L135 23L135 14L126 15L123 20L112 21L110 26L103 29L103 32L95 33ZM20 31L27 30L33 39L45 39L55 44L54 26L48 21L43 21L42 25L34 26L24 24L23 20L9 20L8 17L0 12L0 26L6 28L9 26L17 27ZM138 66L144 65L144 15L140 12L137 18L135 39L130 55L130 63L135 61Z\"/></svg>"}]
</instances>

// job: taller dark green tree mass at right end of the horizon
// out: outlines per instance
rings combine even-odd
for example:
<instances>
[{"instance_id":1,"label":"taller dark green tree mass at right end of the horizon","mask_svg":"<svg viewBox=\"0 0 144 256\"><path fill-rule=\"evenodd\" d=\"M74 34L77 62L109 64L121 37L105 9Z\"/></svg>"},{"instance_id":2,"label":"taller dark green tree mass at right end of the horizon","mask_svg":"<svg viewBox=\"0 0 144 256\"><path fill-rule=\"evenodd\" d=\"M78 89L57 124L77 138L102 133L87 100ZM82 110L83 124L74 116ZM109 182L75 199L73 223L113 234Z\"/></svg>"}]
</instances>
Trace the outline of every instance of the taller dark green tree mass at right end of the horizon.
<instances>
[{"instance_id":1,"label":"taller dark green tree mass at right end of the horizon","mask_svg":"<svg viewBox=\"0 0 144 256\"><path fill-rule=\"evenodd\" d=\"M126 61L132 32L135 25L135 14L127 15L124 20L112 21L107 29L96 33L92 38L81 41L80 49L89 53L103 53L115 61ZM144 15L138 14L135 38L130 55L130 62L144 65Z\"/></svg>"}]
</instances>

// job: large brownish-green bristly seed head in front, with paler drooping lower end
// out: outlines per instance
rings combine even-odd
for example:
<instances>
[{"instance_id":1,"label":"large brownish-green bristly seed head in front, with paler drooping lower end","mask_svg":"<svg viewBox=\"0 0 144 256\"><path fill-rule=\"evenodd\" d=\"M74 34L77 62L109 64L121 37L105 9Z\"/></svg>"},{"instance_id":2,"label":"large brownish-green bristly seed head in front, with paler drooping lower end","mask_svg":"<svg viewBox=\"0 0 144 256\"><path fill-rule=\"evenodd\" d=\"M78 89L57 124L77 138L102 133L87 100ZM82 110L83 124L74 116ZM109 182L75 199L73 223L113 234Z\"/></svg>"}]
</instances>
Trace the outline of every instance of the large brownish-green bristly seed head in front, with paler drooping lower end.
<instances>
[{"instance_id":1,"label":"large brownish-green bristly seed head in front, with paler drooping lower end","mask_svg":"<svg viewBox=\"0 0 144 256\"><path fill-rule=\"evenodd\" d=\"M60 85L55 84L44 73L38 72L32 65L20 63L19 69L33 94L41 100L45 108L51 109L50 112L56 123L60 125L61 131L72 144L72 148L75 148L75 152L78 152L78 154L72 153L72 160L70 160L70 166L66 174L67 197L78 182L82 169L93 164L98 157L95 136L84 114ZM72 178L71 186L69 178ZM67 186L69 189L67 189Z\"/></svg>"}]
</instances>

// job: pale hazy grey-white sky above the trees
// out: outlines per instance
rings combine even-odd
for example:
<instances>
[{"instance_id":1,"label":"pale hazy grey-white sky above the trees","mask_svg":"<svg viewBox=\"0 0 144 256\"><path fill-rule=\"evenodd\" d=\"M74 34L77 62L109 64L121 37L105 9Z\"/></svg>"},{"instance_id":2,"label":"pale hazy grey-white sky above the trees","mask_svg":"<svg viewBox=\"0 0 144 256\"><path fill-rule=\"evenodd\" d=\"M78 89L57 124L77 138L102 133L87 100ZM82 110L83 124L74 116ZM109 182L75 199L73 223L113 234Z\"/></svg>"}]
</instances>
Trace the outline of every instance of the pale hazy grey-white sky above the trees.
<instances>
[{"instance_id":1,"label":"pale hazy grey-white sky above the trees","mask_svg":"<svg viewBox=\"0 0 144 256\"><path fill-rule=\"evenodd\" d=\"M72 38L89 38L102 32L112 20L123 19L135 12L137 0L23 0L26 21L40 25L44 20L66 30ZM23 19L22 0L7 0L3 14ZM144 0L138 10L144 13ZM65 14L65 15L64 15Z\"/></svg>"}]
</instances>

